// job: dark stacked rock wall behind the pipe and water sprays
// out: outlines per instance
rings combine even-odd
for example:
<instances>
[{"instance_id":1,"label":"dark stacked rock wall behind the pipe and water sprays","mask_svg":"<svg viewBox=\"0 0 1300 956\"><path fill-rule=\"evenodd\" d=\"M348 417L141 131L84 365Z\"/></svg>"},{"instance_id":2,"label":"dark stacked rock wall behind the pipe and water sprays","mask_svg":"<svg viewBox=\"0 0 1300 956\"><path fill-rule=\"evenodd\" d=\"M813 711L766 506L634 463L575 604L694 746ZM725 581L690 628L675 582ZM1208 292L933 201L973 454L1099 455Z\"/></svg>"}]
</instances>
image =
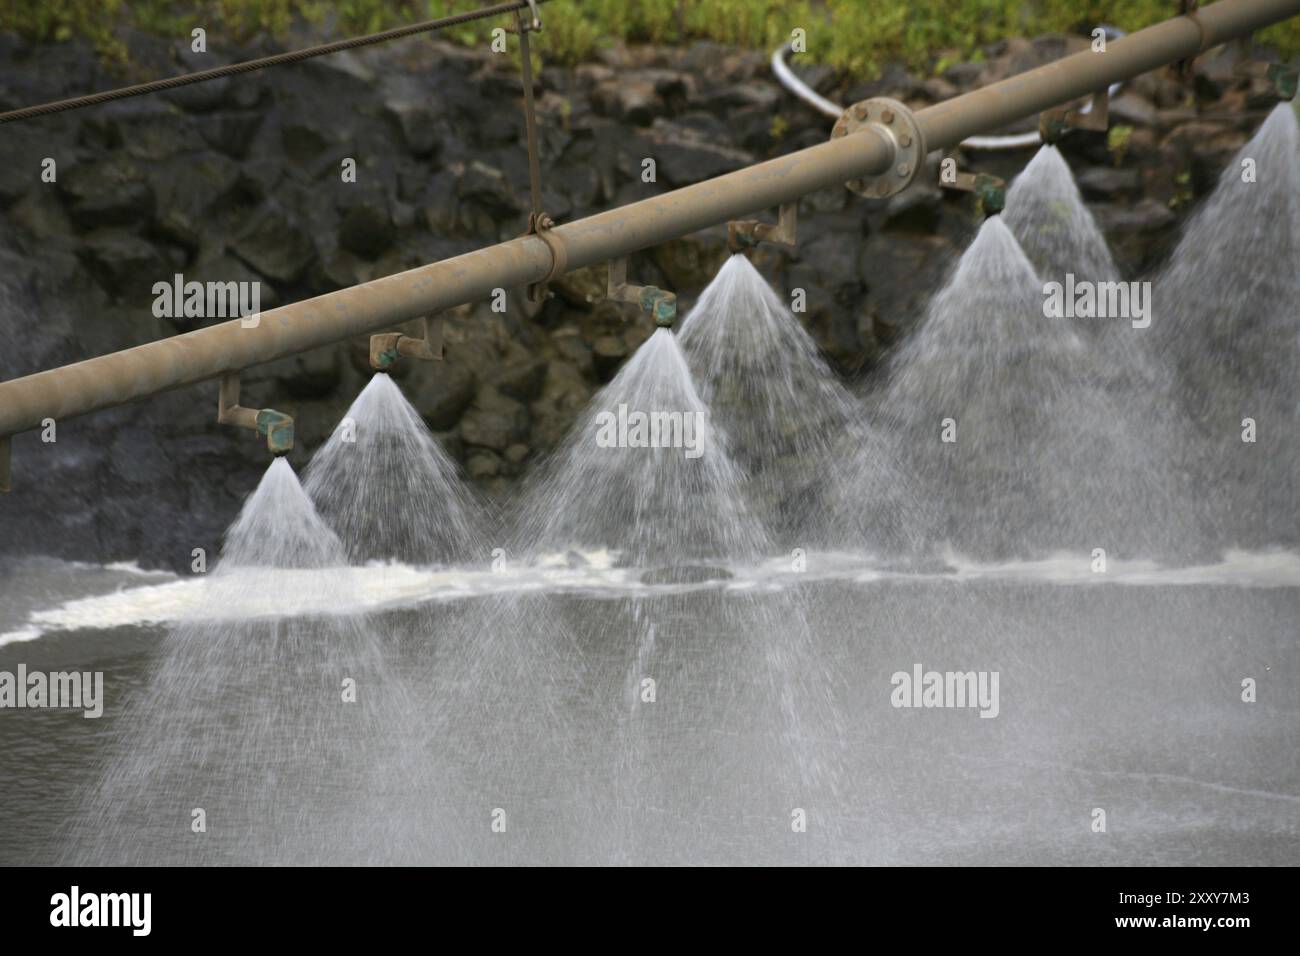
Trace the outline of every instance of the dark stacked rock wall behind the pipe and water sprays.
<instances>
[{"instance_id":1,"label":"dark stacked rock wall behind the pipe and water sprays","mask_svg":"<svg viewBox=\"0 0 1300 956\"><path fill-rule=\"evenodd\" d=\"M302 39L292 46L306 46ZM924 107L1056 59L1083 42L1008 40L941 77L887 70L850 85L805 72L842 103L889 95ZM0 109L274 52L195 55L130 38L130 75L81 44L0 34ZM524 230L520 83L508 57L421 38L0 129L0 377L125 349L204 324L159 319L152 285L257 280L261 307L454 256ZM1148 269L1179 219L1262 117L1231 59L1192 82L1152 74L1112 105L1122 137L1076 133L1066 155L1126 273ZM543 206L558 221L820 143L829 122L772 78L767 57L714 44L612 49L545 68L538 99ZM1031 151L980 155L1010 179ZM43 182L42 161L57 164ZM356 182L341 176L356 163ZM656 181L642 181L654 159ZM937 177L931 177L933 182ZM755 261L845 376L870 375L972 233L968 196L918 183L884 203L846 190L807 196L797 250ZM634 256L637 281L699 293L725 256L724 229ZM446 316L447 358L403 362L406 394L489 496L555 446L575 412L649 336L630 306L602 300L603 268L556 282L542 306L511 290ZM244 403L294 415L302 467L365 377L367 339L248 369ZM265 467L251 433L218 427L216 384L58 423L57 442L14 441L16 490L0 501L0 554L186 566Z\"/></svg>"}]
</instances>

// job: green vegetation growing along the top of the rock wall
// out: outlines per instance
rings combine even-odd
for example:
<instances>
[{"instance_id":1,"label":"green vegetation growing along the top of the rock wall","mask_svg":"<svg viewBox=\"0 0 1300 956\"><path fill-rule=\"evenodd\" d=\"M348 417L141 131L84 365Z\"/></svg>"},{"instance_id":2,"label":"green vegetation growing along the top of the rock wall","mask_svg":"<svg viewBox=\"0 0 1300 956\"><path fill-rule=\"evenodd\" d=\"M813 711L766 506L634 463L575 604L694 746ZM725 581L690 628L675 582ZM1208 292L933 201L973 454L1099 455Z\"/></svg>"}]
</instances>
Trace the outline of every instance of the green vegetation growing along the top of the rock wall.
<instances>
[{"instance_id":1,"label":"green vegetation growing along the top of the rock wall","mask_svg":"<svg viewBox=\"0 0 1300 956\"><path fill-rule=\"evenodd\" d=\"M399 23L441 17L488 0L0 0L0 25L40 40L84 36L108 59L125 47L114 25L185 35L203 26L209 36L244 39L257 33L282 36L300 18L332 35L373 33ZM1005 36L1035 36L1110 23L1138 30L1176 13L1173 0L552 0L542 56L572 64L601 46L718 40L771 49L806 31L807 53L859 77L878 75L889 61L941 72L978 60L980 48ZM450 31L462 43L480 43L499 21L478 21ZM1283 56L1300 53L1300 18L1270 27L1260 39Z\"/></svg>"}]
</instances>

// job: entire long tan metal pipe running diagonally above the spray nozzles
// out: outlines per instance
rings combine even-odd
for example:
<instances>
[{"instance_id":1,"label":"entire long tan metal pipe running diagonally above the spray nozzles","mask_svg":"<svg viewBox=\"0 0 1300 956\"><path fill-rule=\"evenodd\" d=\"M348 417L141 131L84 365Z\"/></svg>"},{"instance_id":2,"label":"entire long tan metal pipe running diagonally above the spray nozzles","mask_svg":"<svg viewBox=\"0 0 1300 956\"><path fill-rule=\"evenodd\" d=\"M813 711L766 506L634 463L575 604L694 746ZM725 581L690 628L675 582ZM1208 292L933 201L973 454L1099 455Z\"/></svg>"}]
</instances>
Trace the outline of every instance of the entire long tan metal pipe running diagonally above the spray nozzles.
<instances>
[{"instance_id":1,"label":"entire long tan metal pipe running diagonally above the spray nozzles","mask_svg":"<svg viewBox=\"0 0 1300 956\"><path fill-rule=\"evenodd\" d=\"M1106 46L953 98L915 114L928 150L1066 103L1108 85L1300 13L1300 0L1222 0ZM893 160L871 129L734 173L555 226L566 268L627 256L667 239L789 203L807 193L878 176ZM497 287L538 282L555 254L525 235L455 259L342 289L315 299L198 329L62 368L0 382L0 436L192 385L421 315L486 298Z\"/></svg>"}]
</instances>

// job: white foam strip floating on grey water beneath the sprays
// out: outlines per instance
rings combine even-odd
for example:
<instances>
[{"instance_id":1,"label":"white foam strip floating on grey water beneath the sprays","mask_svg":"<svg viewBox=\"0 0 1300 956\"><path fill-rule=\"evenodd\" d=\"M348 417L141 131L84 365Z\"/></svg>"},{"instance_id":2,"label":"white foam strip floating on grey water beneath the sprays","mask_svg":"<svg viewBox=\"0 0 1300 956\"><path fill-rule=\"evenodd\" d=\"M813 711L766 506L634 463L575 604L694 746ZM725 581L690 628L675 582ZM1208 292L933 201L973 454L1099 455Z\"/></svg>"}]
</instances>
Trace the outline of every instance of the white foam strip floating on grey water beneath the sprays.
<instances>
[{"instance_id":1,"label":"white foam strip floating on grey water beneath the sprays","mask_svg":"<svg viewBox=\"0 0 1300 956\"><path fill-rule=\"evenodd\" d=\"M1009 581L1067 587L1300 588L1300 553L1228 551L1223 561L1164 567L1153 561L1109 559L1092 570L1091 554L1060 553L1037 561L978 562L948 554L933 571L898 570L849 551L812 551L806 570L786 557L748 564L718 564L727 576L689 583L647 584L644 568L616 567L606 549L547 554L508 571L486 567L428 568L396 563L330 568L235 568L222 580L190 579L125 588L65 601L34 611L0 633L0 646L72 631L160 627L194 620L255 620L367 614L438 601L493 594L585 594L645 597L698 591L777 593L809 583L888 584L901 581ZM577 566L572 566L577 564ZM213 602L213 589L226 598ZM238 601L229 596L238 594ZM220 606L214 606L220 604Z\"/></svg>"}]
</instances>

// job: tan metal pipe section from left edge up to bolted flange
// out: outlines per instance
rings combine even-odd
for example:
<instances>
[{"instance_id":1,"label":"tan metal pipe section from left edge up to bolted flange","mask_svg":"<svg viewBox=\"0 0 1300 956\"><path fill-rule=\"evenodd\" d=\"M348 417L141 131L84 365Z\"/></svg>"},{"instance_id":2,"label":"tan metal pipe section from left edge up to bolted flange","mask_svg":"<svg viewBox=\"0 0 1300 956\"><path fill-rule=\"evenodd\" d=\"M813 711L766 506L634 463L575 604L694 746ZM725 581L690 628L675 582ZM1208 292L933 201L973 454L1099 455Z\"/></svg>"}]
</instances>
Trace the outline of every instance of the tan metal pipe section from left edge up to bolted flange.
<instances>
[{"instance_id":1,"label":"tan metal pipe section from left edge up to bolted flange","mask_svg":"<svg viewBox=\"0 0 1300 956\"><path fill-rule=\"evenodd\" d=\"M577 269L883 172L889 161L881 138L848 137L555 226L551 233L566 246L568 268ZM525 235L256 316L0 382L0 434L378 332L488 298L498 287L538 282L550 268L547 243Z\"/></svg>"}]
</instances>

